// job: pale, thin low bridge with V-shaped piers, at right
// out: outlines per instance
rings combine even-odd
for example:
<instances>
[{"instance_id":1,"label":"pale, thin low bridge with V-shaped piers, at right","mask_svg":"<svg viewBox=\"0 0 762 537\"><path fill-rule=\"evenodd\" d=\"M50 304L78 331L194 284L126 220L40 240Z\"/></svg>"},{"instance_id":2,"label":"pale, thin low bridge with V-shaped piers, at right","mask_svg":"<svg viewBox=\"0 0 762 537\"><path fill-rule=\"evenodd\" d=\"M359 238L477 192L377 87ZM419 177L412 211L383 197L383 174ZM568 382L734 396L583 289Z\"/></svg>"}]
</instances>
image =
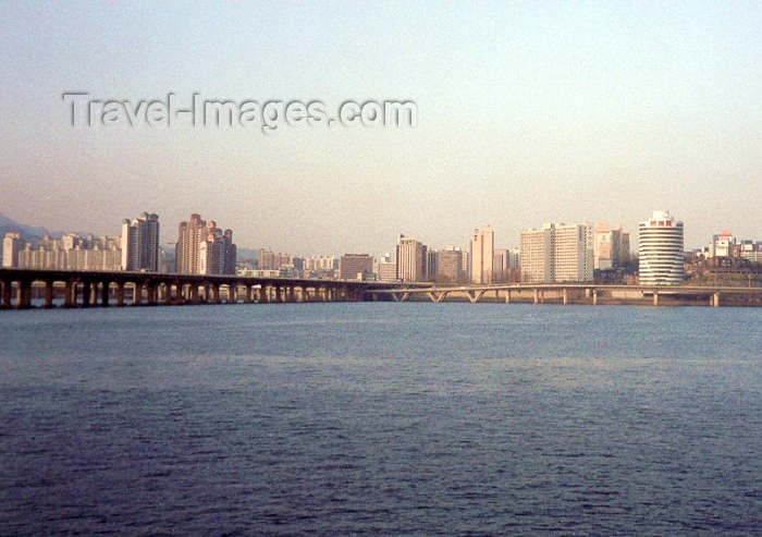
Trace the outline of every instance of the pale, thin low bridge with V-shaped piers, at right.
<instances>
[{"instance_id":1,"label":"pale, thin low bridge with V-shaped piers, at right","mask_svg":"<svg viewBox=\"0 0 762 537\"><path fill-rule=\"evenodd\" d=\"M530 304L696 304L762 306L762 288L687 285L512 284L368 289L374 301L524 302Z\"/></svg>"}]
</instances>

